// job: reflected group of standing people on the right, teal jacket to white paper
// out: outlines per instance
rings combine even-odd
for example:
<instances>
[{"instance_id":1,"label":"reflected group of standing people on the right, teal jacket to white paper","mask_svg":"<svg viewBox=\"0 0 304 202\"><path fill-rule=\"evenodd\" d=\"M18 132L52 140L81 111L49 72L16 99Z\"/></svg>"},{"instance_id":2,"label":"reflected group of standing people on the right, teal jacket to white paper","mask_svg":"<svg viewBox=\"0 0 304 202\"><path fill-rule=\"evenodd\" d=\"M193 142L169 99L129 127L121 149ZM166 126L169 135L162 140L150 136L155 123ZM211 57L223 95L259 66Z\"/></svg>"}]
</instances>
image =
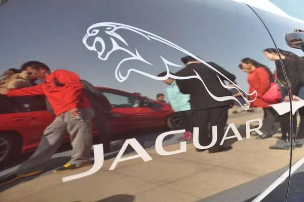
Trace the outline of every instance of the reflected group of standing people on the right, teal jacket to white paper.
<instances>
[{"instance_id":1,"label":"reflected group of standing people on the right, teal jacket to white paper","mask_svg":"<svg viewBox=\"0 0 304 202\"><path fill-rule=\"evenodd\" d=\"M169 78L164 83L167 84L167 94L169 103L179 106L186 106L187 97L178 96L179 94L188 95L188 103L190 104L183 109L173 107L176 112L181 112L181 120L185 133L178 139L179 141L187 140L188 143L193 141L193 130L189 128L199 127L199 143L207 146L211 143L212 129L210 126L217 126L218 136L216 144L209 149L210 153L231 150L232 147L220 145L220 141L224 135L224 127L228 118L228 110L232 108L233 114L238 114L241 107L248 108L246 112L255 112L255 108L263 109L262 135L253 133L256 139L272 138L275 131L275 123L279 122L281 128L281 138L274 145L270 145L270 149L290 149L291 128L290 128L290 112L279 115L271 105L283 102L289 102L287 82L290 84L290 94L293 101L304 99L304 72L301 70L304 66L303 57L296 54L279 49L279 53L274 48L263 50L264 55L271 61L275 62L276 69L274 73L260 62L252 58L243 58L239 64L239 69L248 74L247 81L249 84L248 96L238 89L237 78L235 75L227 72L214 62L207 62L225 77L218 75L207 65L191 56L181 58L185 67L177 73L170 73L180 77L194 76L194 71L202 78L207 88L199 79L174 80ZM198 56L197 56L198 57ZM282 59L282 62L280 60ZM284 76L282 64L285 67L287 81ZM159 74L163 77L167 72ZM226 81L232 87L223 88L220 80ZM228 78L228 79L226 79ZM230 81L229 81L230 80ZM232 82L231 82L232 81ZM174 89L174 90L170 90ZM232 95L237 98L233 101L218 102L211 98L209 92L214 92L217 97ZM256 91L256 94L253 92ZM158 94L160 95L160 94ZM162 94L163 95L163 94ZM248 98L250 103L246 103L244 98ZM162 99L162 98L161 98ZM159 99L158 99L159 100ZM297 115L299 115L299 129L297 128ZM208 135L207 135L208 134ZM304 144L304 107L297 110L293 115L293 148L300 148ZM191 141L189 141L191 140ZM197 149L198 152L202 151Z\"/></svg>"}]
</instances>

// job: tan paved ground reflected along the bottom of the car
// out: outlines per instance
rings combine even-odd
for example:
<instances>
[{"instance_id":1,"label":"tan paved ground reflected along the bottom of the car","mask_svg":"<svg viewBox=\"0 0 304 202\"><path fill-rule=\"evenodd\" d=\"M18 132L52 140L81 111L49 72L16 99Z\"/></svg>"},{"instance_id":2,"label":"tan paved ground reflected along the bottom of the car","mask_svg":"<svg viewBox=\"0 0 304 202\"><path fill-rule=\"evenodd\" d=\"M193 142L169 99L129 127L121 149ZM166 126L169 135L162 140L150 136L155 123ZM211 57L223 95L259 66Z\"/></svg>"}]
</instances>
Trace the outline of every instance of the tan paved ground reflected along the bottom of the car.
<instances>
[{"instance_id":1,"label":"tan paved ground reflected along the bottom of the car","mask_svg":"<svg viewBox=\"0 0 304 202\"><path fill-rule=\"evenodd\" d=\"M261 117L261 113L241 113L230 116L229 122L240 125L239 131L242 137L245 137L245 120ZM0 201L187 202L205 198L204 201L247 202L272 184L278 175L287 170L286 165L289 163L289 151L268 149L269 145L277 141L279 134L267 140L256 140L251 137L236 142L236 139L231 139L225 144L231 144L233 150L216 154L197 153L194 146L189 144L186 152L171 156L160 156L153 149L156 134L150 136L149 141L139 142L149 149L147 152L153 158L151 161L143 162L141 158L123 161L118 163L115 170L108 171L114 160L110 158L104 161L102 169L94 175L66 183L62 183L62 177L85 172L91 166L65 174L47 173L28 181L1 187ZM179 144L175 142L176 138L177 136L170 137L165 142L168 145L165 147L166 151L179 149ZM116 144L118 148L122 145L120 142ZM303 151L304 148L294 150L294 162L303 156ZM69 151L56 154L47 166L59 166L68 160L68 154ZM125 156L128 155L134 153ZM9 171L3 171L2 174ZM258 188L250 183L256 183ZM294 183L300 184L296 181ZM253 192L249 193L246 187L253 187ZM284 184L278 188L281 189L280 193L284 194L282 187ZM294 191L295 194L299 194L302 189L297 188ZM219 199L219 196L224 198ZM279 198L272 201L284 200L285 198Z\"/></svg>"}]
</instances>

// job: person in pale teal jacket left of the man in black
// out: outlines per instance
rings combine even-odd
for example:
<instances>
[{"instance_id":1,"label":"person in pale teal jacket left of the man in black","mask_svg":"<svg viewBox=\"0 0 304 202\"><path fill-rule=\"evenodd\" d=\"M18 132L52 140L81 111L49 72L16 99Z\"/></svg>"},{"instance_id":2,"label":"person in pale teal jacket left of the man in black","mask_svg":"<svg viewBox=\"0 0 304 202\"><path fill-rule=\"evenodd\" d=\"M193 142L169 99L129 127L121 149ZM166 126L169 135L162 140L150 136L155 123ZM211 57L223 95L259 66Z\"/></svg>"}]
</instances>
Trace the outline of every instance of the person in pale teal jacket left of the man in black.
<instances>
[{"instance_id":1,"label":"person in pale teal jacket left of the man in black","mask_svg":"<svg viewBox=\"0 0 304 202\"><path fill-rule=\"evenodd\" d=\"M173 73L170 73L174 75ZM162 72L159 74L159 77L164 77L167 75L167 72ZM193 142L193 121L192 121L192 112L191 106L188 102L190 99L189 94L183 94L179 91L179 88L176 84L175 79L168 78L163 81L167 84L167 94L170 105L175 112L179 112L181 115L182 125L185 127L185 132L183 135L178 138L179 141L186 141L187 143Z\"/></svg>"}]
</instances>

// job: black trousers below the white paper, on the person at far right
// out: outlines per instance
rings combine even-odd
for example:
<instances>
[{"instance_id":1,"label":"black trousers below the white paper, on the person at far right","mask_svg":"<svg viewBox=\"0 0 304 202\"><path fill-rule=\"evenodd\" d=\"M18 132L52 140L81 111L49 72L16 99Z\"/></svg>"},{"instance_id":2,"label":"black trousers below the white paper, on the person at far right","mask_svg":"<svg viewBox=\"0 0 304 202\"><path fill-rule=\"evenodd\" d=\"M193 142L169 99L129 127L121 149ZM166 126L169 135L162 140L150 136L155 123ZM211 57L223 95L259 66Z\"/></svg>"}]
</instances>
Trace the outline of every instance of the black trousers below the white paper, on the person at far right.
<instances>
[{"instance_id":1,"label":"black trousers below the white paper, on the person at far right","mask_svg":"<svg viewBox=\"0 0 304 202\"><path fill-rule=\"evenodd\" d=\"M296 132L296 114L292 117L293 118L293 135ZM290 113L283 114L282 116L279 116L280 121L280 127L282 132L281 140L289 140L290 136L288 135L290 133Z\"/></svg>"}]
</instances>

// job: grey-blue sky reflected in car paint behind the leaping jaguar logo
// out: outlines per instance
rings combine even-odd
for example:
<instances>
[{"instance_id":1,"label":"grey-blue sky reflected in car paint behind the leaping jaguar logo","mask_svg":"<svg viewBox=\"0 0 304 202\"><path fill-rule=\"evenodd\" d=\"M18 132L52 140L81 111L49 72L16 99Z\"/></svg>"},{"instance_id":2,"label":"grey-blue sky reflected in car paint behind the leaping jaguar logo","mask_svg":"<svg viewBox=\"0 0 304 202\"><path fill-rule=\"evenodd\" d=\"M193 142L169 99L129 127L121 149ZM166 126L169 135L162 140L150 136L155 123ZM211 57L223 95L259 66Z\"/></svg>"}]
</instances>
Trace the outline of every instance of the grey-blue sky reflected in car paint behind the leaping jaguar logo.
<instances>
[{"instance_id":1,"label":"grey-blue sky reflected in car paint behind the leaping jaguar logo","mask_svg":"<svg viewBox=\"0 0 304 202\"><path fill-rule=\"evenodd\" d=\"M102 61L82 43L87 28L98 22L118 22L150 31L205 61L221 65L237 76L239 86L246 91L247 75L238 68L242 58L251 57L274 71L274 62L262 52L273 48L273 43L247 6L220 0L208 0L204 4L195 0L162 2L9 1L0 7L0 71L19 68L28 60L40 60L52 70L74 71L96 86L140 92L150 98L165 93L165 84L136 73L122 83L115 79L118 58L124 56L116 54ZM130 47L138 49L154 65L130 63L125 72L135 66L157 75L165 71L160 55L182 65L179 61L184 56L182 52L147 43L136 36L129 40ZM179 69L170 67L172 72Z\"/></svg>"}]
</instances>

